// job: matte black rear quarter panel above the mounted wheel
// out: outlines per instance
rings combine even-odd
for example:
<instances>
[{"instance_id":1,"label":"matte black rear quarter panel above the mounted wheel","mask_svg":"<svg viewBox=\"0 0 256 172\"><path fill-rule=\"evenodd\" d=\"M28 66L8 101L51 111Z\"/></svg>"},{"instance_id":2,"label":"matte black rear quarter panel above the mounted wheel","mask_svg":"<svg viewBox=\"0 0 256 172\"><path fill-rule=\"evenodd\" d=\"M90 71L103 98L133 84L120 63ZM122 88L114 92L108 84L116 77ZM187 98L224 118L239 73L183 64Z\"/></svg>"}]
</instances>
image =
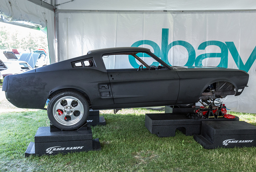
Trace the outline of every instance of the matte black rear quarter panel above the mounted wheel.
<instances>
[{"instance_id":1,"label":"matte black rear quarter panel above the mounted wheel","mask_svg":"<svg viewBox=\"0 0 256 172\"><path fill-rule=\"evenodd\" d=\"M12 75L8 79L7 98L20 108L43 109L49 95L60 89L77 89L86 93L93 104L102 104L99 82L109 82L108 74L94 69L74 68Z\"/></svg>"}]
</instances>

